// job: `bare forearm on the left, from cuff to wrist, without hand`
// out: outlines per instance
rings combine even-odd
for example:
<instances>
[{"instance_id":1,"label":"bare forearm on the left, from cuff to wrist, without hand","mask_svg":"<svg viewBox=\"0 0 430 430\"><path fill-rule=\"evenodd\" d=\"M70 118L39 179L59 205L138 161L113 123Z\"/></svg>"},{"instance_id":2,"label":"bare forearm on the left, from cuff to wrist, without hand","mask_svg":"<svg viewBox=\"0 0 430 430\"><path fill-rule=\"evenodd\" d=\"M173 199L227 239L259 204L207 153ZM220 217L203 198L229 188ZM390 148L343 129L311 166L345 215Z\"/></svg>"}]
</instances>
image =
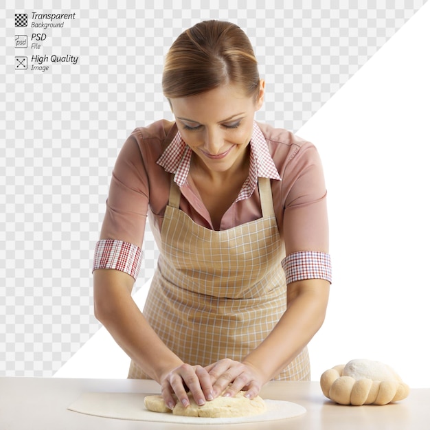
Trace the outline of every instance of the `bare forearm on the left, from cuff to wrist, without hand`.
<instances>
[{"instance_id":1,"label":"bare forearm on the left, from cuff to wrist, without hand","mask_svg":"<svg viewBox=\"0 0 430 430\"><path fill-rule=\"evenodd\" d=\"M94 271L95 316L124 352L148 376L160 382L165 372L183 362L161 341L137 308L131 297L133 284L124 286L123 274L109 272Z\"/></svg>"}]
</instances>

